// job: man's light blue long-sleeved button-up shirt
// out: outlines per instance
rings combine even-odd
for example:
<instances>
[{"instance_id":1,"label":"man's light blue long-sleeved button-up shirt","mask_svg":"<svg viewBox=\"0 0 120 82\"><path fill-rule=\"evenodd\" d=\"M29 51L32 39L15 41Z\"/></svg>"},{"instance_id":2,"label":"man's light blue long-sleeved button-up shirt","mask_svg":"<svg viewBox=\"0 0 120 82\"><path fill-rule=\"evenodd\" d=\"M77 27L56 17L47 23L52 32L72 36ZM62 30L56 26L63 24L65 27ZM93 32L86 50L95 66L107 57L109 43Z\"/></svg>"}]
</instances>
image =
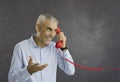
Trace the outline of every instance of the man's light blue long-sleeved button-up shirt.
<instances>
[{"instance_id":1,"label":"man's light blue long-sleeved button-up shirt","mask_svg":"<svg viewBox=\"0 0 120 82\"><path fill-rule=\"evenodd\" d=\"M27 65L29 56L32 56L34 63L48 64L42 71L29 74ZM57 66L68 75L73 75L75 67L64 58L73 62L69 51L61 51L55 48L55 43L44 48L36 45L33 36L30 39L19 42L13 51L11 66L8 74L9 82L56 82Z\"/></svg>"}]
</instances>

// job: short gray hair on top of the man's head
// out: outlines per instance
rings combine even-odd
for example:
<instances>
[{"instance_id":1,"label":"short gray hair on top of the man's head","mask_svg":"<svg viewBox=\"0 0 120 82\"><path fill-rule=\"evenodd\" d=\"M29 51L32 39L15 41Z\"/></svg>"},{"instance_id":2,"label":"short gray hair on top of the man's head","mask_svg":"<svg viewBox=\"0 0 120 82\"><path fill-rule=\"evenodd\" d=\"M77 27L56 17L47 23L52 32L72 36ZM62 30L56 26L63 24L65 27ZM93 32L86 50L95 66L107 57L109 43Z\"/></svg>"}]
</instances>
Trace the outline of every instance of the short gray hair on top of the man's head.
<instances>
[{"instance_id":1,"label":"short gray hair on top of the man's head","mask_svg":"<svg viewBox=\"0 0 120 82\"><path fill-rule=\"evenodd\" d=\"M52 16L50 14L40 14L38 16L36 24L42 24L45 20L50 20L52 22L58 23L58 20L54 16Z\"/></svg>"}]
</instances>

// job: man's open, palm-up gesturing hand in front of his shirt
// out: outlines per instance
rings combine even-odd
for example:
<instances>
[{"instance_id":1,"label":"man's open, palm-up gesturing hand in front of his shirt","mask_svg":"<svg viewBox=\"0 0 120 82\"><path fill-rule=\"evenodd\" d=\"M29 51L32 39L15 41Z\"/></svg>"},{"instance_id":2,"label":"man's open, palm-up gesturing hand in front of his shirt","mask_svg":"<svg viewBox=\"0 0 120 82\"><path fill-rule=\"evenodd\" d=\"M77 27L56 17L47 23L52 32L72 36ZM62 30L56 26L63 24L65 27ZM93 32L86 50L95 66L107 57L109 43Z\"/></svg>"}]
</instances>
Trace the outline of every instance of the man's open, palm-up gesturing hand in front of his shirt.
<instances>
[{"instance_id":1,"label":"man's open, palm-up gesturing hand in front of his shirt","mask_svg":"<svg viewBox=\"0 0 120 82\"><path fill-rule=\"evenodd\" d=\"M28 66L27 66L27 70L30 74L33 74L37 71L43 70L47 66L48 66L48 64L39 65L38 63L33 63L32 57L30 56Z\"/></svg>"}]
</instances>

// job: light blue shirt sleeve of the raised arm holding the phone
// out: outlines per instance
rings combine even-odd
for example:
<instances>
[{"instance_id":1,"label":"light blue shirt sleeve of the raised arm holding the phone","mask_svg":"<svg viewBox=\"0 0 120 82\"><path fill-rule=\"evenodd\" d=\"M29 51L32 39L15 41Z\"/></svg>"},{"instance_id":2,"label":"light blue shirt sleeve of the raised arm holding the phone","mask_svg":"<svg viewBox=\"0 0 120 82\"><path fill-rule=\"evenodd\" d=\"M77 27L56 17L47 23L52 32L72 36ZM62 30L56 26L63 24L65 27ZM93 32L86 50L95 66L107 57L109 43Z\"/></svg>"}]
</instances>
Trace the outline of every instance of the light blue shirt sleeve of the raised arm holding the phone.
<instances>
[{"instance_id":1,"label":"light blue shirt sleeve of the raised arm holding the phone","mask_svg":"<svg viewBox=\"0 0 120 82\"><path fill-rule=\"evenodd\" d=\"M59 68L68 75L74 75L74 73L75 73L74 64L66 61L66 59L69 60L70 62L74 63L69 50L66 50L65 52L58 50L58 66L59 66Z\"/></svg>"}]
</instances>

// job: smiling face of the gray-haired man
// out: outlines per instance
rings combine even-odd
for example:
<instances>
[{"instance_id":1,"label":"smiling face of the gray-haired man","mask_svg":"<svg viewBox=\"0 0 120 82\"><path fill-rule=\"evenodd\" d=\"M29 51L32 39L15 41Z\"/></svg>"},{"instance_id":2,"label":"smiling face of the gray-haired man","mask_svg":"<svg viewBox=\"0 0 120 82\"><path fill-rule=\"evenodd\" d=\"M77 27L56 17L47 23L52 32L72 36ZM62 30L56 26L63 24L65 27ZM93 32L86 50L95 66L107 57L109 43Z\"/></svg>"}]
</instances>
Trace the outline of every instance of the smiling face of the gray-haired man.
<instances>
[{"instance_id":1,"label":"smiling face of the gray-haired man","mask_svg":"<svg viewBox=\"0 0 120 82\"><path fill-rule=\"evenodd\" d=\"M39 28L39 41L42 45L48 45L56 35L57 22L46 20Z\"/></svg>"}]
</instances>

